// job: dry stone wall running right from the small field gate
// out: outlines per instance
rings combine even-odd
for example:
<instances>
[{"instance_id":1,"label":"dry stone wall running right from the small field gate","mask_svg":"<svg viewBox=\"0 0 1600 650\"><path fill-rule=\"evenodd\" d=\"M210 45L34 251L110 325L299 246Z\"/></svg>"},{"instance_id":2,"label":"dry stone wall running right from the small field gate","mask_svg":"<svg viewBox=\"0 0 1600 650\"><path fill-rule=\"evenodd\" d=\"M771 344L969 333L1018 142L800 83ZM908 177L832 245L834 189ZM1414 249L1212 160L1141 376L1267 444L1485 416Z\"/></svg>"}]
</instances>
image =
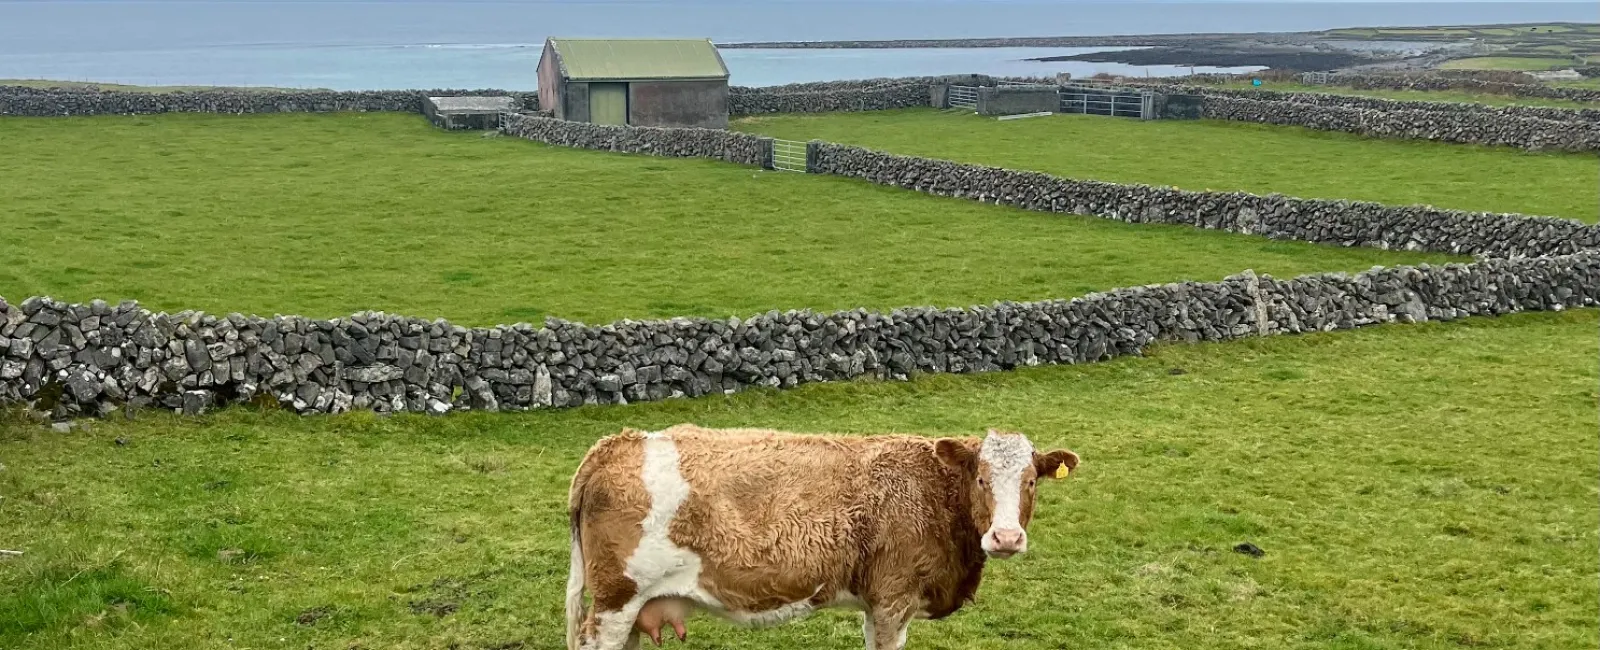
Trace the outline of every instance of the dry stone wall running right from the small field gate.
<instances>
[{"instance_id":1,"label":"dry stone wall running right from the small field gate","mask_svg":"<svg viewBox=\"0 0 1600 650\"><path fill-rule=\"evenodd\" d=\"M1600 250L1600 226L1523 215L1077 181L1038 171L813 146L816 173L1022 210L1184 224L1341 247L1536 258Z\"/></svg>"}]
</instances>

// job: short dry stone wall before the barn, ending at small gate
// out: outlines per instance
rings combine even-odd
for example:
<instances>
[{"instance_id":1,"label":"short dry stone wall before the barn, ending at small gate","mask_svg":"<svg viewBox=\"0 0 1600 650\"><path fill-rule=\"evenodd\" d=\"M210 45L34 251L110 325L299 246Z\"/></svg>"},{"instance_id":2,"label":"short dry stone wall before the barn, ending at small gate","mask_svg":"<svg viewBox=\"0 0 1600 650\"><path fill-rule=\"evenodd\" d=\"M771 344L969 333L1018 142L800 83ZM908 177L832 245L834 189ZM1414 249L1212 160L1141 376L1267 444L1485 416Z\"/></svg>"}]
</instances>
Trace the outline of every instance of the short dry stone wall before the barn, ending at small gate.
<instances>
[{"instance_id":1,"label":"short dry stone wall before the barn, ending at small gate","mask_svg":"<svg viewBox=\"0 0 1600 650\"><path fill-rule=\"evenodd\" d=\"M536 142L578 149L715 158L741 165L771 167L771 138L710 128L610 126L557 120L544 115L507 114L501 131Z\"/></svg>"}]
</instances>

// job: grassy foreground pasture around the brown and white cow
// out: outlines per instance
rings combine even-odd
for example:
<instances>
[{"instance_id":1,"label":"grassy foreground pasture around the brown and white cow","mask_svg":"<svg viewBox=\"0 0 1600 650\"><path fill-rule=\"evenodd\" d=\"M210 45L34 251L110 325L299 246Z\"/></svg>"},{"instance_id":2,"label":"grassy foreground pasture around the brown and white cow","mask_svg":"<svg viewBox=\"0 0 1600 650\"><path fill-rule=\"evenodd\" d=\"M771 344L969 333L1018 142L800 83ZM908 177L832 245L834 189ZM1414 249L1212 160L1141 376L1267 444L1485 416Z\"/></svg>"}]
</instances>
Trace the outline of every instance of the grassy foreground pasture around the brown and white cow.
<instances>
[{"instance_id":1,"label":"grassy foreground pasture around the brown and white cow","mask_svg":"<svg viewBox=\"0 0 1600 650\"><path fill-rule=\"evenodd\" d=\"M912 648L1600 644L1595 311L558 413L0 424L0 647L558 648L565 487L621 426L1019 427L1083 455ZM1182 368L1176 373L1173 368ZM1232 552L1242 541L1259 560ZM856 648L859 618L690 621Z\"/></svg>"}]
</instances>

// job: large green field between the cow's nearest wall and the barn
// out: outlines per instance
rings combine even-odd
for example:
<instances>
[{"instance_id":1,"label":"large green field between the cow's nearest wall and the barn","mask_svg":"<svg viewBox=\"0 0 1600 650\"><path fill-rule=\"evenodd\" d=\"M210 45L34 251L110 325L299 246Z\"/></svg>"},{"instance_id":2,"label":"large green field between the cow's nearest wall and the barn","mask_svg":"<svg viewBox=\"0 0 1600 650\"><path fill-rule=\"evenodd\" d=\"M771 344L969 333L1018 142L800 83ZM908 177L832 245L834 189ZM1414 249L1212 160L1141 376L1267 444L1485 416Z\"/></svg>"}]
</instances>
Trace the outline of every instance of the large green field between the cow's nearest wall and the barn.
<instances>
[{"instance_id":1,"label":"large green field between the cow's nearest wall and the barn","mask_svg":"<svg viewBox=\"0 0 1600 650\"><path fill-rule=\"evenodd\" d=\"M0 296L459 323L968 306L1453 259L445 133L418 115L0 120Z\"/></svg>"}]
</instances>

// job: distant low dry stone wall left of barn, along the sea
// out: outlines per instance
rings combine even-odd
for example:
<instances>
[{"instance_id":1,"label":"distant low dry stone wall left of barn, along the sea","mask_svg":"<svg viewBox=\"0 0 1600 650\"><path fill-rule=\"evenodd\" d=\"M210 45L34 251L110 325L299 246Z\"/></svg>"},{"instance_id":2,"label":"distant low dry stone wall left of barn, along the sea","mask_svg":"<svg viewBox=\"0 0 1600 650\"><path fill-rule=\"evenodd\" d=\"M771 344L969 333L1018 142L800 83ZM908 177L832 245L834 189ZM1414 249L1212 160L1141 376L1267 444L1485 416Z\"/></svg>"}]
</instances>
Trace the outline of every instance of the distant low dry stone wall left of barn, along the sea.
<instances>
[{"instance_id":1,"label":"distant low dry stone wall left of barn, along the sea","mask_svg":"<svg viewBox=\"0 0 1600 650\"><path fill-rule=\"evenodd\" d=\"M538 93L506 90L200 90L179 93L138 93L106 90L43 90L0 86L0 115L142 115L163 112L259 114L259 112L422 112L429 96L515 98L523 109L536 110Z\"/></svg>"}]
</instances>

